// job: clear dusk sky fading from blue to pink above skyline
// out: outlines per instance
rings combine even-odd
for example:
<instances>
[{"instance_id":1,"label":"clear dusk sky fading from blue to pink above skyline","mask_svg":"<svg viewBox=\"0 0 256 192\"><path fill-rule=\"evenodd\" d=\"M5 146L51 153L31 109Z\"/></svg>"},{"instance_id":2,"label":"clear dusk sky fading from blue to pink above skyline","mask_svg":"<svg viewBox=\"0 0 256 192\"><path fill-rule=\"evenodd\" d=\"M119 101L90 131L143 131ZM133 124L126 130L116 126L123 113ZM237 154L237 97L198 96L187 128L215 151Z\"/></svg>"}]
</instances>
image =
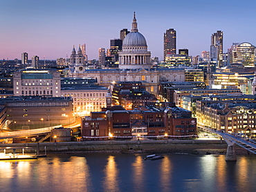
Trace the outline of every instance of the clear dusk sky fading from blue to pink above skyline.
<instances>
[{"instance_id":1,"label":"clear dusk sky fading from blue to pink above skyline","mask_svg":"<svg viewBox=\"0 0 256 192\"><path fill-rule=\"evenodd\" d=\"M134 11L138 30L152 57L163 59L163 33L176 30L177 50L192 56L210 50L210 37L223 31L224 52L232 43L256 46L256 1L237 0L0 0L0 60L66 58L73 45L86 44L89 59L109 48L120 30L131 30Z\"/></svg>"}]
</instances>

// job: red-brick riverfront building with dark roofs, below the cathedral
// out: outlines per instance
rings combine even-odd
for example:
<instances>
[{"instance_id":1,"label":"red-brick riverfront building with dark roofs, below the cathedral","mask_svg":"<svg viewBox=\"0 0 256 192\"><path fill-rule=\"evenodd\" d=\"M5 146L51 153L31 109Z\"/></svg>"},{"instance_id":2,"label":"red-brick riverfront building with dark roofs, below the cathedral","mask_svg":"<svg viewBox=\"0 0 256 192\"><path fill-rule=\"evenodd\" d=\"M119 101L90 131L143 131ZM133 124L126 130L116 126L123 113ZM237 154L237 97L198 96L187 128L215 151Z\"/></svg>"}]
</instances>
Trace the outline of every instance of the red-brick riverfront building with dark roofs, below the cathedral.
<instances>
[{"instance_id":1,"label":"red-brick riverfront building with dark roofs, below the cathedral","mask_svg":"<svg viewBox=\"0 0 256 192\"><path fill-rule=\"evenodd\" d=\"M112 106L107 111L91 113L82 119L83 140L107 140L108 137L159 135L190 135L196 133L196 119L191 112L174 104L151 103L127 111L122 106Z\"/></svg>"}]
</instances>

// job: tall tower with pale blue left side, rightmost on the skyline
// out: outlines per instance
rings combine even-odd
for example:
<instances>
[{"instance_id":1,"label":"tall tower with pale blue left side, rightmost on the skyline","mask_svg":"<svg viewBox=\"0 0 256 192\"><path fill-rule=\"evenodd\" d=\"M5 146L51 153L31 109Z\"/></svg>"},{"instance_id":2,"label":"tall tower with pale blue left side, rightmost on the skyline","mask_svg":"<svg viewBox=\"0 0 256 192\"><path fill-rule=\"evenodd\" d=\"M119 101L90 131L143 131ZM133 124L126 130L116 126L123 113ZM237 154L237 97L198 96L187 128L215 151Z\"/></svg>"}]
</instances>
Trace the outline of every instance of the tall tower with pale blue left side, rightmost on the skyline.
<instances>
[{"instance_id":1,"label":"tall tower with pale blue left side, rightmost on the skyline","mask_svg":"<svg viewBox=\"0 0 256 192\"><path fill-rule=\"evenodd\" d=\"M219 61L220 55L223 53L223 32L217 30L212 34L211 46L210 46L210 57Z\"/></svg>"}]
</instances>

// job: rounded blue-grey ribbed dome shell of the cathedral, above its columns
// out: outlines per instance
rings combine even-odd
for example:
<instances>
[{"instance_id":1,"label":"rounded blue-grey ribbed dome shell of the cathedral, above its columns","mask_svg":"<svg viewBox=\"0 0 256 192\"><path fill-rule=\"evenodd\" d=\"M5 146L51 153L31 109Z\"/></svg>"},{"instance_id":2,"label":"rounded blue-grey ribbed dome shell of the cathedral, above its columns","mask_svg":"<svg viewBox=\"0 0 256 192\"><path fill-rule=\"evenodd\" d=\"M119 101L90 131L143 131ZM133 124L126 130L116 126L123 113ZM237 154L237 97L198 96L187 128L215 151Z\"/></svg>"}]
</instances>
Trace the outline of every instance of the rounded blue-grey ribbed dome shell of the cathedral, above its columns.
<instances>
[{"instance_id":1,"label":"rounded blue-grey ribbed dome shell of the cathedral, above its columns","mask_svg":"<svg viewBox=\"0 0 256 192\"><path fill-rule=\"evenodd\" d=\"M129 32L122 41L122 46L147 46L147 41L140 32Z\"/></svg>"}]
</instances>

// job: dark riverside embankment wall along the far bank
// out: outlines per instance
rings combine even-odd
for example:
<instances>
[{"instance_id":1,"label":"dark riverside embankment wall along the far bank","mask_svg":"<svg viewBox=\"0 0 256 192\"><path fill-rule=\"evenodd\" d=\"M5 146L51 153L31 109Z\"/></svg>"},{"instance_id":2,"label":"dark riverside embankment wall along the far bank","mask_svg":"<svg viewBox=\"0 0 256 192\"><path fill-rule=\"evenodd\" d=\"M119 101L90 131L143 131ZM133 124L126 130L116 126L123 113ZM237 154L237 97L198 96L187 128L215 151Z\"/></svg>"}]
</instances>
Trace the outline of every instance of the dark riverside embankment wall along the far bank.
<instances>
[{"instance_id":1,"label":"dark riverside embankment wall along the far bank","mask_svg":"<svg viewBox=\"0 0 256 192\"><path fill-rule=\"evenodd\" d=\"M2 147L17 147L16 153L192 153L226 154L227 144L223 140L132 140L132 141L90 141L90 142L46 142L26 144L0 144ZM249 154L244 148L236 146L237 154ZM6 153L12 153L6 149Z\"/></svg>"}]
</instances>

